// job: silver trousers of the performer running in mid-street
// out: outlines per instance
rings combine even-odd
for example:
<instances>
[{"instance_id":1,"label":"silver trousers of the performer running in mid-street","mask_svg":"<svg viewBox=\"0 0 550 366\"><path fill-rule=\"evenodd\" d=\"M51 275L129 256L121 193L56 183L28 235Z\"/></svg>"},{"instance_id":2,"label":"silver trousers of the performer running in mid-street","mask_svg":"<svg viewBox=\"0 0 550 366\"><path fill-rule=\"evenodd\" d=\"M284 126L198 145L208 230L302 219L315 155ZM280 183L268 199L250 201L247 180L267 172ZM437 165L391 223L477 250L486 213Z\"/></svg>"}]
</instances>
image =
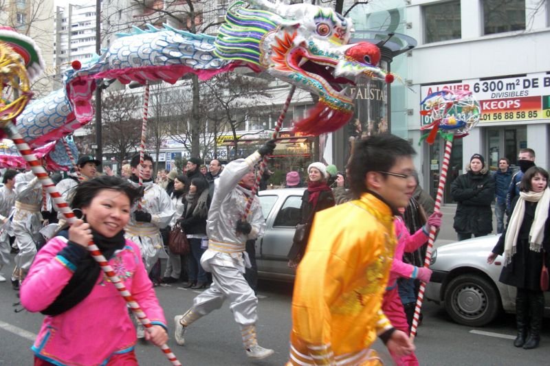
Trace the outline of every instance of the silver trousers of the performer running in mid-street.
<instances>
[{"instance_id":1,"label":"silver trousers of the performer running in mid-street","mask_svg":"<svg viewBox=\"0 0 550 366\"><path fill-rule=\"evenodd\" d=\"M258 298L238 268L210 263L212 285L193 300L191 312L203 317L221 308L229 299L233 317L239 325L254 325L258 320Z\"/></svg>"}]
</instances>

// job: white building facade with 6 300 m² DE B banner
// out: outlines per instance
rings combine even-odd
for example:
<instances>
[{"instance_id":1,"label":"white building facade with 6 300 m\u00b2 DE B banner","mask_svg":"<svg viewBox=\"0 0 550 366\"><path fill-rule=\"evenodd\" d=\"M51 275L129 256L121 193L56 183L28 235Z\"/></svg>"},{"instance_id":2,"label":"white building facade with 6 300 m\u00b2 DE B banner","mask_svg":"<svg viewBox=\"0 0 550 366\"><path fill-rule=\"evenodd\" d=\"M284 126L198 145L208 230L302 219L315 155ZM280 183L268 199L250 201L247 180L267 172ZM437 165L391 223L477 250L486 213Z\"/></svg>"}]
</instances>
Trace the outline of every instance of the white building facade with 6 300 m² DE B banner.
<instances>
[{"instance_id":1,"label":"white building facade with 6 300 m\u00b2 DE B banner","mask_svg":"<svg viewBox=\"0 0 550 366\"><path fill-rule=\"evenodd\" d=\"M408 138L418 146L423 132L420 102L432 91L469 90L482 117L470 135L454 141L450 181L463 174L474 153L496 170L498 159L513 164L520 148L536 151L536 163L550 157L550 8L539 0L411 0L407 33L418 41L410 52L406 79ZM424 187L435 194L443 143L418 146L417 167Z\"/></svg>"}]
</instances>

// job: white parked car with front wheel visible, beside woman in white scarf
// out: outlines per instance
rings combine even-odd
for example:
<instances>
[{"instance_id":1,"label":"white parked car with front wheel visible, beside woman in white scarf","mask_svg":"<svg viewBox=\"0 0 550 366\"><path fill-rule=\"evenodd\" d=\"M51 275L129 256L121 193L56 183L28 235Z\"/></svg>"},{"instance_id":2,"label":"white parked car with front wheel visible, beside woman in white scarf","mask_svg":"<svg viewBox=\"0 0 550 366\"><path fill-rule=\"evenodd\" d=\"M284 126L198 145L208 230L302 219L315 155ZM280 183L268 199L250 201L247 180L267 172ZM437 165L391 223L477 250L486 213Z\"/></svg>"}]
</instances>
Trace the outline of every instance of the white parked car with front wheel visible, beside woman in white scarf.
<instances>
[{"instance_id":1,"label":"white parked car with front wheel visible, beside woman in white scarf","mask_svg":"<svg viewBox=\"0 0 550 366\"><path fill-rule=\"evenodd\" d=\"M456 323L478 327L493 321L502 310L516 312L516 288L498 281L504 258L499 255L494 264L487 264L498 236L454 242L432 253L426 299L443 304ZM550 315L550 294L544 295L545 314Z\"/></svg>"}]
</instances>

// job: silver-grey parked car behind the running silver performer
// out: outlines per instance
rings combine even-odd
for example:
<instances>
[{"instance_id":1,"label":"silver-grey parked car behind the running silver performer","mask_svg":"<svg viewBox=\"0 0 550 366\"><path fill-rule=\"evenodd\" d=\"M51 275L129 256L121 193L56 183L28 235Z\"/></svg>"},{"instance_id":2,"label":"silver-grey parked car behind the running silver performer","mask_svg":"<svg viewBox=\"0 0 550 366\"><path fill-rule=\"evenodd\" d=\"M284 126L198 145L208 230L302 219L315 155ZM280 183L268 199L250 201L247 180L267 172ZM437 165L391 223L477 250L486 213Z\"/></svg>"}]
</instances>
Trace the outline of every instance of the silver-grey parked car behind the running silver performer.
<instances>
[{"instance_id":1,"label":"silver-grey parked car behind the running silver performer","mask_svg":"<svg viewBox=\"0 0 550 366\"><path fill-rule=\"evenodd\" d=\"M305 188L283 188L258 192L265 218L265 233L256 240L259 277L294 281L294 270L287 266Z\"/></svg>"}]
</instances>

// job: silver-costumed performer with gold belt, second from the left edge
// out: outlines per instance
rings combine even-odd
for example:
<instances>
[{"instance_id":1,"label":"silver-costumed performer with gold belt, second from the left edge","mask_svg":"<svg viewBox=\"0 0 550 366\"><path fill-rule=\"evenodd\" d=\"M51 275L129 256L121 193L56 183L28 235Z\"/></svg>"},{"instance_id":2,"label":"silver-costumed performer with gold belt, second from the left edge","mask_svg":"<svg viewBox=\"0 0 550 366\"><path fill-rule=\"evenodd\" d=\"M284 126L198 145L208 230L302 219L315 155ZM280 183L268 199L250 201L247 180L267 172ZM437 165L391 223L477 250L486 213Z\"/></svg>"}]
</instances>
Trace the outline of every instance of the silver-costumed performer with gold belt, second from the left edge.
<instances>
[{"instance_id":1,"label":"silver-costumed performer with gold belt, second from the left edge","mask_svg":"<svg viewBox=\"0 0 550 366\"><path fill-rule=\"evenodd\" d=\"M19 253L15 256L12 285L19 289L36 255L36 243L42 239L42 185L32 172L17 174L15 194L12 229Z\"/></svg>"}]
</instances>

